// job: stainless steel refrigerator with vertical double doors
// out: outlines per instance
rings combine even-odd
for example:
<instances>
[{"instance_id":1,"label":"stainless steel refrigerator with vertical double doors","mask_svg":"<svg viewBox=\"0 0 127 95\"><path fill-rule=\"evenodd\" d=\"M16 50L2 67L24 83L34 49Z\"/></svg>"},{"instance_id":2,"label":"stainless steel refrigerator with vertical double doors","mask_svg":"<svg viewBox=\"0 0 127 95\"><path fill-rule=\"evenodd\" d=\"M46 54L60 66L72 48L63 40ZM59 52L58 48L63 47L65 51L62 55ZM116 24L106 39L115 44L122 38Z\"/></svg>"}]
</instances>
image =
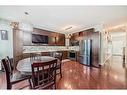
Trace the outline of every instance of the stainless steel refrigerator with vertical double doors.
<instances>
[{"instance_id":1,"label":"stainless steel refrigerator with vertical double doors","mask_svg":"<svg viewBox=\"0 0 127 95\"><path fill-rule=\"evenodd\" d=\"M92 40L82 40L80 42L80 58L79 61L85 65L92 65Z\"/></svg>"}]
</instances>

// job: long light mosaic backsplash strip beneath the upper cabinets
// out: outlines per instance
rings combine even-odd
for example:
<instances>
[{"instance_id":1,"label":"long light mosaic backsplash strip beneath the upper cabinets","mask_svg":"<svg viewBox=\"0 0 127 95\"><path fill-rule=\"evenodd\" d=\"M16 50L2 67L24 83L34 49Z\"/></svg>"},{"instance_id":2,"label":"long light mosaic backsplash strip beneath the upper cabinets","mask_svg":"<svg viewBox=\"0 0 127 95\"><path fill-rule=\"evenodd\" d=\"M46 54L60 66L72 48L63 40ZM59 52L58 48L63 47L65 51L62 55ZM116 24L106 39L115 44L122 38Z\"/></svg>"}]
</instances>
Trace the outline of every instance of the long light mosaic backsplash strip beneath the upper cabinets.
<instances>
[{"instance_id":1,"label":"long light mosaic backsplash strip beneath the upper cabinets","mask_svg":"<svg viewBox=\"0 0 127 95\"><path fill-rule=\"evenodd\" d=\"M79 51L79 46L23 46L23 53L52 52L52 51Z\"/></svg>"}]
</instances>

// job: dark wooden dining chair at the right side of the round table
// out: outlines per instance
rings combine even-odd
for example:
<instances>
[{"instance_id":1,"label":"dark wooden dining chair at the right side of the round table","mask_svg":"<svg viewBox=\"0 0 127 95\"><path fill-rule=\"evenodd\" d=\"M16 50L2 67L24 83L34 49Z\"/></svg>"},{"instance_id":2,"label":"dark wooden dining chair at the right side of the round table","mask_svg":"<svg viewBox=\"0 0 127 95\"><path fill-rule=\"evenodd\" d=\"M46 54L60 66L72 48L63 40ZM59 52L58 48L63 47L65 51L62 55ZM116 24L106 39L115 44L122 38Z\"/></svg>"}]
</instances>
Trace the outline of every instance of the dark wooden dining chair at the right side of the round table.
<instances>
[{"instance_id":1,"label":"dark wooden dining chair at the right side of the round table","mask_svg":"<svg viewBox=\"0 0 127 95\"><path fill-rule=\"evenodd\" d=\"M60 74L61 78L62 78L62 68L61 68L61 65L62 65L62 57L63 57L63 54L62 53L59 53L59 52L53 52L52 54L53 57L59 59L58 60L58 65L57 65L57 71L56 71L56 74Z\"/></svg>"}]
</instances>

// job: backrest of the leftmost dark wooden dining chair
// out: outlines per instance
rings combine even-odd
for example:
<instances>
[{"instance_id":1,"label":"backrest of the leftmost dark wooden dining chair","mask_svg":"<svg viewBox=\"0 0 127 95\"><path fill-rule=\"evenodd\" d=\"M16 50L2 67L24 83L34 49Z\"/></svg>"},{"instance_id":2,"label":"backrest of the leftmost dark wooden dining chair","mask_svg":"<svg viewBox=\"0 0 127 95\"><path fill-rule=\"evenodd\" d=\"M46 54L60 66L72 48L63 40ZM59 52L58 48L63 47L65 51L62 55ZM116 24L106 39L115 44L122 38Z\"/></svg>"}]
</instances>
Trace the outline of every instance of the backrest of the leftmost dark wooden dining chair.
<instances>
[{"instance_id":1,"label":"backrest of the leftmost dark wooden dining chair","mask_svg":"<svg viewBox=\"0 0 127 95\"><path fill-rule=\"evenodd\" d=\"M10 64L8 58L2 59L2 63L3 63L3 66L4 66L5 72L6 72L7 84L10 84L10 78L11 78L12 72L13 72L12 69L11 69L11 64Z\"/></svg>"}]
</instances>

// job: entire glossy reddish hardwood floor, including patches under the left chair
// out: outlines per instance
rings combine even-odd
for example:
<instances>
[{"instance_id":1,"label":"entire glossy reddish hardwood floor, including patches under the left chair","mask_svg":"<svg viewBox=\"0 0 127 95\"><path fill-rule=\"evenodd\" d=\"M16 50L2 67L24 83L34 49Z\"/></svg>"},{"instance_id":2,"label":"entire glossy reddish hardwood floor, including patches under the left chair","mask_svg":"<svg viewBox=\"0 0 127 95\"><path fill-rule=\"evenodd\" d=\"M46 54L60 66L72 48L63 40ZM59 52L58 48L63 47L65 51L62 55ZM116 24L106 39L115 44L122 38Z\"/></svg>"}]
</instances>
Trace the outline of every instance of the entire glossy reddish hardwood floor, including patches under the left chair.
<instances>
[{"instance_id":1,"label":"entire glossy reddish hardwood floor, including patches under the left chair","mask_svg":"<svg viewBox=\"0 0 127 95\"><path fill-rule=\"evenodd\" d=\"M57 89L127 89L127 68L122 58L114 56L101 68L87 67L75 61L62 64L63 77L57 76ZM0 73L0 89L6 89L5 73ZM24 81L13 89L26 85ZM29 89L26 87L24 89Z\"/></svg>"}]
</instances>

